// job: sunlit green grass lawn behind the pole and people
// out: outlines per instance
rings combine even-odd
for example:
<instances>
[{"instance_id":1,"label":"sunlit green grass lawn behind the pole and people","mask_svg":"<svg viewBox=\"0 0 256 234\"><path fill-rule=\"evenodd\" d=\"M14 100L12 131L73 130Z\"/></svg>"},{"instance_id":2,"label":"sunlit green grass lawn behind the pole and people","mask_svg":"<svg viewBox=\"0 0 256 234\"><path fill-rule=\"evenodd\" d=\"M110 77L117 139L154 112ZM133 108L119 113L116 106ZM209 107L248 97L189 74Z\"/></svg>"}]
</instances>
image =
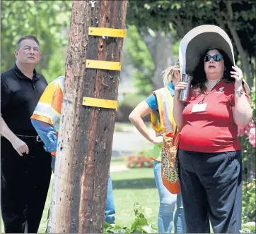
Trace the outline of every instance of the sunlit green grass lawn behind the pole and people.
<instances>
[{"instance_id":1,"label":"sunlit green grass lawn behind the pole and people","mask_svg":"<svg viewBox=\"0 0 256 234\"><path fill-rule=\"evenodd\" d=\"M112 165L122 164L120 161ZM113 172L112 185L116 208L116 223L120 226L130 226L134 221L134 202L139 202L146 209L146 218L157 228L158 191L153 178L153 168L128 169ZM47 227L47 212L50 207L52 183L47 196L44 214L40 223L39 233L45 233ZM1 233L4 233L4 224L1 222Z\"/></svg>"}]
</instances>

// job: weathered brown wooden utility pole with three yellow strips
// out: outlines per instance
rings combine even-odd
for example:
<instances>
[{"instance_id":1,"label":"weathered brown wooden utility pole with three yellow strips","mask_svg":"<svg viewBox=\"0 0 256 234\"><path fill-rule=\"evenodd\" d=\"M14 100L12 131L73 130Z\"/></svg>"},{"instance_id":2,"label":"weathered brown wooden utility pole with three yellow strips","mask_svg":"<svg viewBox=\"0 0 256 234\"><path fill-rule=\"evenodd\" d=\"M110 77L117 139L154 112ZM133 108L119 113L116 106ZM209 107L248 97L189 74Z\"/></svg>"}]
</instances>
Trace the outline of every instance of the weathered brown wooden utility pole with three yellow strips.
<instances>
[{"instance_id":1,"label":"weathered brown wooden utility pole with three yellow strips","mask_svg":"<svg viewBox=\"0 0 256 234\"><path fill-rule=\"evenodd\" d=\"M126 12L127 1L72 3L49 233L103 232L116 110L97 106L117 100L120 70L98 61L121 62L123 38L91 36L89 27L124 30Z\"/></svg>"}]
</instances>

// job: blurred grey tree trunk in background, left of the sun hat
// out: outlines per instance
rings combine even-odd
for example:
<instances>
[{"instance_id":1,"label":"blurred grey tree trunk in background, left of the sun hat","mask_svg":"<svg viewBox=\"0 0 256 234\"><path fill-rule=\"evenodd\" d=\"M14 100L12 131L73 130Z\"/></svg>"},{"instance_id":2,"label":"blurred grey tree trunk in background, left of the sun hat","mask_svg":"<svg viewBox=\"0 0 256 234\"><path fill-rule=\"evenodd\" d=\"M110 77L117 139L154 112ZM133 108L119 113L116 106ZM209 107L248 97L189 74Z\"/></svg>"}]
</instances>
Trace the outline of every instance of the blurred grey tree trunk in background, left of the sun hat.
<instances>
[{"instance_id":1,"label":"blurred grey tree trunk in background, left of the sun hat","mask_svg":"<svg viewBox=\"0 0 256 234\"><path fill-rule=\"evenodd\" d=\"M152 75L153 90L158 90L163 87L163 80L161 73L168 66L173 66L175 58L173 58L172 51L172 35L165 32L140 32L141 38L149 48L149 52L152 57L152 61L155 65L155 70Z\"/></svg>"}]
</instances>

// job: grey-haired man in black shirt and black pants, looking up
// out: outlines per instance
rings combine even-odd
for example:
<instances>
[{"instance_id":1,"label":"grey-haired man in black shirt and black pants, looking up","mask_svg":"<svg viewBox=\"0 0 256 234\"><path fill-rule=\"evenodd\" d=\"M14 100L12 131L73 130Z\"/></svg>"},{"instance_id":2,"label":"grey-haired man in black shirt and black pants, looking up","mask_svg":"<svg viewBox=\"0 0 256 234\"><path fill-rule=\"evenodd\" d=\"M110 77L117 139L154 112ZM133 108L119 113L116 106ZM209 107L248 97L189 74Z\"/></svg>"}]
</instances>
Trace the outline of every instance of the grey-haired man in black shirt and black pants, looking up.
<instances>
[{"instance_id":1,"label":"grey-haired man in black shirt and black pants, looking up","mask_svg":"<svg viewBox=\"0 0 256 234\"><path fill-rule=\"evenodd\" d=\"M37 233L51 178L51 155L30 117L47 87L35 71L36 37L16 45L16 64L1 74L1 212L6 233Z\"/></svg>"}]
</instances>

